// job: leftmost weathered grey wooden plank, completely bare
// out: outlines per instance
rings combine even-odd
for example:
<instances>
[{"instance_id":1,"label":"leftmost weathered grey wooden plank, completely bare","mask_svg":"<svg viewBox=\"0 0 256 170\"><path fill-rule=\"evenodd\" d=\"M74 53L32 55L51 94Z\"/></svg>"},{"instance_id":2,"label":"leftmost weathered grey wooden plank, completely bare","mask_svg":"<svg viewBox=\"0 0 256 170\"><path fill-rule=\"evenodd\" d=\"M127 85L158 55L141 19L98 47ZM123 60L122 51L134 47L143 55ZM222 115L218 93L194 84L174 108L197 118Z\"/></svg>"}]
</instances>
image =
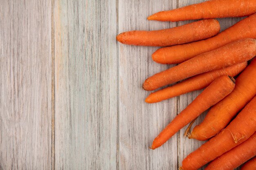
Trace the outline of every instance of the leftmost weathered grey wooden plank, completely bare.
<instances>
[{"instance_id":1,"label":"leftmost weathered grey wooden plank, completely bare","mask_svg":"<svg viewBox=\"0 0 256 170\"><path fill-rule=\"evenodd\" d=\"M0 170L51 169L51 1L0 3Z\"/></svg>"}]
</instances>

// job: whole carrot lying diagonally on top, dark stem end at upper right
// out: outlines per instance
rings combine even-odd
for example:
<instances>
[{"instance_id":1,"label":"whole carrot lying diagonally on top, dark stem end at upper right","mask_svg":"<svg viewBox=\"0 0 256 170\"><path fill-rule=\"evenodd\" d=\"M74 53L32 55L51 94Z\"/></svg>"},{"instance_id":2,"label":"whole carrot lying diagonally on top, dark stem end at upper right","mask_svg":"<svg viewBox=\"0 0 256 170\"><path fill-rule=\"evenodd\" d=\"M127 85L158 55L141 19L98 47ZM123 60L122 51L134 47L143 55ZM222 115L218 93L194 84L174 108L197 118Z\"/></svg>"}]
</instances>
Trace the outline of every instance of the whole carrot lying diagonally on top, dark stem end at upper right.
<instances>
[{"instance_id":1,"label":"whole carrot lying diagonally on top, dark stem end at upper right","mask_svg":"<svg viewBox=\"0 0 256 170\"><path fill-rule=\"evenodd\" d=\"M181 128L189 124L205 110L222 100L235 87L233 77L222 75L214 80L198 97L171 121L166 128L154 139L152 149L162 146Z\"/></svg>"}]
</instances>

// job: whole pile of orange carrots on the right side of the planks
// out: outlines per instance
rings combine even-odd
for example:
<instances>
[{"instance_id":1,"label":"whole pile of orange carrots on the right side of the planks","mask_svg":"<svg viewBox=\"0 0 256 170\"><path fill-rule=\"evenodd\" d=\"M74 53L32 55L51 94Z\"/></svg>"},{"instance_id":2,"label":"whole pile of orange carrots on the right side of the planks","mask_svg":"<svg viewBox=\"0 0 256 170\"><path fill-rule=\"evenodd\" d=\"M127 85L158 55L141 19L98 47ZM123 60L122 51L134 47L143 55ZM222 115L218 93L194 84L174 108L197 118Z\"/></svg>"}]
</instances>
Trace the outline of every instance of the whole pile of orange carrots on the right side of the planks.
<instances>
[{"instance_id":1,"label":"whole pile of orange carrots on the right side of the planks","mask_svg":"<svg viewBox=\"0 0 256 170\"><path fill-rule=\"evenodd\" d=\"M215 18L244 17L225 31ZM175 28L128 31L117 41L138 46L164 46L153 61L178 64L148 77L142 87L155 91L145 102L156 103L205 88L162 132L151 149L189 124L184 137L209 140L189 154L180 170L256 170L256 0L209 0L161 11L148 20L199 20ZM255 57L255 58L254 58ZM175 83L175 84L173 84ZM208 110L192 130L195 119Z\"/></svg>"}]
</instances>

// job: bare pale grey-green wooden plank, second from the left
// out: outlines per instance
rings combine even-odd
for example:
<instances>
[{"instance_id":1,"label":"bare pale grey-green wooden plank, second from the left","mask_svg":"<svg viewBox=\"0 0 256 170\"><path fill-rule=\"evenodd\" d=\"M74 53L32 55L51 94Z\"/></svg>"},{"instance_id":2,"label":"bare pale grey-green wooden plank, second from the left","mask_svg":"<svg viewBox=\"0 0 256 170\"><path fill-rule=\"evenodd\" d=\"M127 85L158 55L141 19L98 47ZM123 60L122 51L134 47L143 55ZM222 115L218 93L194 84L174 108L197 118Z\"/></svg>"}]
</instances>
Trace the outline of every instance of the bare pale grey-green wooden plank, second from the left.
<instances>
[{"instance_id":1,"label":"bare pale grey-green wooden plank, second from the left","mask_svg":"<svg viewBox=\"0 0 256 170\"><path fill-rule=\"evenodd\" d=\"M55 168L117 167L116 0L56 0Z\"/></svg>"}]
</instances>

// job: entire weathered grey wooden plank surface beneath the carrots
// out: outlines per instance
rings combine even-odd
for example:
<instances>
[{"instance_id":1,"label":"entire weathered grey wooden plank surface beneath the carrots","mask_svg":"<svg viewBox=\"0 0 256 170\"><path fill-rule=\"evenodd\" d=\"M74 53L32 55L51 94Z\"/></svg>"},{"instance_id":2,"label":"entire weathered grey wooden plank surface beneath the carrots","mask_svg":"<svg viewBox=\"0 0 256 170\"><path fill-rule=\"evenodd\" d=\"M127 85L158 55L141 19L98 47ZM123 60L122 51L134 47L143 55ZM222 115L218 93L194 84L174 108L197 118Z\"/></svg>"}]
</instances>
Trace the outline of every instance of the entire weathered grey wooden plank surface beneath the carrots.
<instances>
[{"instance_id":1,"label":"entire weathered grey wooden plank surface beneath the carrots","mask_svg":"<svg viewBox=\"0 0 256 170\"><path fill-rule=\"evenodd\" d=\"M171 65L115 36L192 22L146 17L202 1L2 0L0 170L177 170L202 142L184 128L149 146L200 91L146 104L141 84ZM222 30L238 20L220 19Z\"/></svg>"}]
</instances>

